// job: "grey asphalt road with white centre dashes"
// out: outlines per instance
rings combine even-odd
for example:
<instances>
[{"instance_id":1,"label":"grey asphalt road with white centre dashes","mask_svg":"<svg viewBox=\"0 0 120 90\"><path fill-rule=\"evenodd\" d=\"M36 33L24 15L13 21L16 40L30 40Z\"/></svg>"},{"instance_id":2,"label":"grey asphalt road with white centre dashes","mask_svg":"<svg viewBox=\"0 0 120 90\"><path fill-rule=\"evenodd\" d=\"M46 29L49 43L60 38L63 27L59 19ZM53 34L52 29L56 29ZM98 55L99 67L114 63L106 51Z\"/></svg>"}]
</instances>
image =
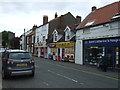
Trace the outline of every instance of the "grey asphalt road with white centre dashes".
<instances>
[{"instance_id":1,"label":"grey asphalt road with white centre dashes","mask_svg":"<svg viewBox=\"0 0 120 90\"><path fill-rule=\"evenodd\" d=\"M118 80L35 58L34 77L19 76L2 80L3 88L118 88ZM67 63L67 62L63 62ZM69 63L71 64L71 63ZM74 64L73 64L74 65Z\"/></svg>"}]
</instances>

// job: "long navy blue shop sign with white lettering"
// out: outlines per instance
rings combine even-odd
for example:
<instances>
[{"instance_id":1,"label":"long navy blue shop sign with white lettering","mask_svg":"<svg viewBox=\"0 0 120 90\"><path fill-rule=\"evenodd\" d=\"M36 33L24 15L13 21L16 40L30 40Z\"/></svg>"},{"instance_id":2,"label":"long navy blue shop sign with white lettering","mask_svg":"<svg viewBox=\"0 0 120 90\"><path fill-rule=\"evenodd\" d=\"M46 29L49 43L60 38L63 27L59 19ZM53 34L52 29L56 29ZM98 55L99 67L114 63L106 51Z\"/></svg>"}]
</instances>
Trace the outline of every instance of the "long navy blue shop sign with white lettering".
<instances>
[{"instance_id":1,"label":"long navy blue shop sign with white lettering","mask_svg":"<svg viewBox=\"0 0 120 90\"><path fill-rule=\"evenodd\" d=\"M85 46L119 46L120 38L108 38L100 40L86 40L84 41Z\"/></svg>"}]
</instances>

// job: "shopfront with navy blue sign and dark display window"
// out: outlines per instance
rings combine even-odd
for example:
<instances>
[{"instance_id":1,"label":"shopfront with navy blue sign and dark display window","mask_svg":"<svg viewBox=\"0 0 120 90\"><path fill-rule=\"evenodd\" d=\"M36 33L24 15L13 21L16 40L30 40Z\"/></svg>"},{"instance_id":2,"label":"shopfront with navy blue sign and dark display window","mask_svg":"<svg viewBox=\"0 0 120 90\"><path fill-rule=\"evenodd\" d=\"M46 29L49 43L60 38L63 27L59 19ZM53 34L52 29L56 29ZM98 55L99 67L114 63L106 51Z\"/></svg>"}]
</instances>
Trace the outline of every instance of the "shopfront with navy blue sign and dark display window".
<instances>
[{"instance_id":1,"label":"shopfront with navy blue sign and dark display window","mask_svg":"<svg viewBox=\"0 0 120 90\"><path fill-rule=\"evenodd\" d=\"M108 66L120 69L120 38L85 40L84 64L97 65L102 56L108 57Z\"/></svg>"}]
</instances>

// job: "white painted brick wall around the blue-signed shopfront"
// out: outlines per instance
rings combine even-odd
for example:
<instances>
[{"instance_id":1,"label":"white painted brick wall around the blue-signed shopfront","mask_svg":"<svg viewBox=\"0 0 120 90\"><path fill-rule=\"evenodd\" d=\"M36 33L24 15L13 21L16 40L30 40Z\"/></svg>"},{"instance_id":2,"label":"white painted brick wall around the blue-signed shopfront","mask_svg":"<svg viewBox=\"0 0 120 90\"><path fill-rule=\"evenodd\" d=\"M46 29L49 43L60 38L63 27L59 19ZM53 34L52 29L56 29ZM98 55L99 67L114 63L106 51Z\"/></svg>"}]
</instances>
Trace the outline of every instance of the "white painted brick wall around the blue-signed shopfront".
<instances>
[{"instance_id":1,"label":"white painted brick wall around the blue-signed shopfront","mask_svg":"<svg viewBox=\"0 0 120 90\"><path fill-rule=\"evenodd\" d=\"M75 46L75 63L83 63L83 40L97 39L97 38L108 38L120 36L120 21L107 23L89 28L90 32L83 33L83 29L76 32L76 46Z\"/></svg>"}]
</instances>

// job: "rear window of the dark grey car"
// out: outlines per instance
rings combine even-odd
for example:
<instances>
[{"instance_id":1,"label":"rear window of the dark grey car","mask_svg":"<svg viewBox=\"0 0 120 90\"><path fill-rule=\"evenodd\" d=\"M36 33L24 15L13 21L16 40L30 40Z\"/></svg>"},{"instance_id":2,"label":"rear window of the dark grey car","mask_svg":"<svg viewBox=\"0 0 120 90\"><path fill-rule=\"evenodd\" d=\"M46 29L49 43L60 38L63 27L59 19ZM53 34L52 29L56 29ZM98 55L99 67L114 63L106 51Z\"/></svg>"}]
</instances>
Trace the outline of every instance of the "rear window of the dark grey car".
<instances>
[{"instance_id":1,"label":"rear window of the dark grey car","mask_svg":"<svg viewBox=\"0 0 120 90\"><path fill-rule=\"evenodd\" d=\"M28 52L12 52L9 54L9 59L30 59L31 54Z\"/></svg>"}]
</instances>

